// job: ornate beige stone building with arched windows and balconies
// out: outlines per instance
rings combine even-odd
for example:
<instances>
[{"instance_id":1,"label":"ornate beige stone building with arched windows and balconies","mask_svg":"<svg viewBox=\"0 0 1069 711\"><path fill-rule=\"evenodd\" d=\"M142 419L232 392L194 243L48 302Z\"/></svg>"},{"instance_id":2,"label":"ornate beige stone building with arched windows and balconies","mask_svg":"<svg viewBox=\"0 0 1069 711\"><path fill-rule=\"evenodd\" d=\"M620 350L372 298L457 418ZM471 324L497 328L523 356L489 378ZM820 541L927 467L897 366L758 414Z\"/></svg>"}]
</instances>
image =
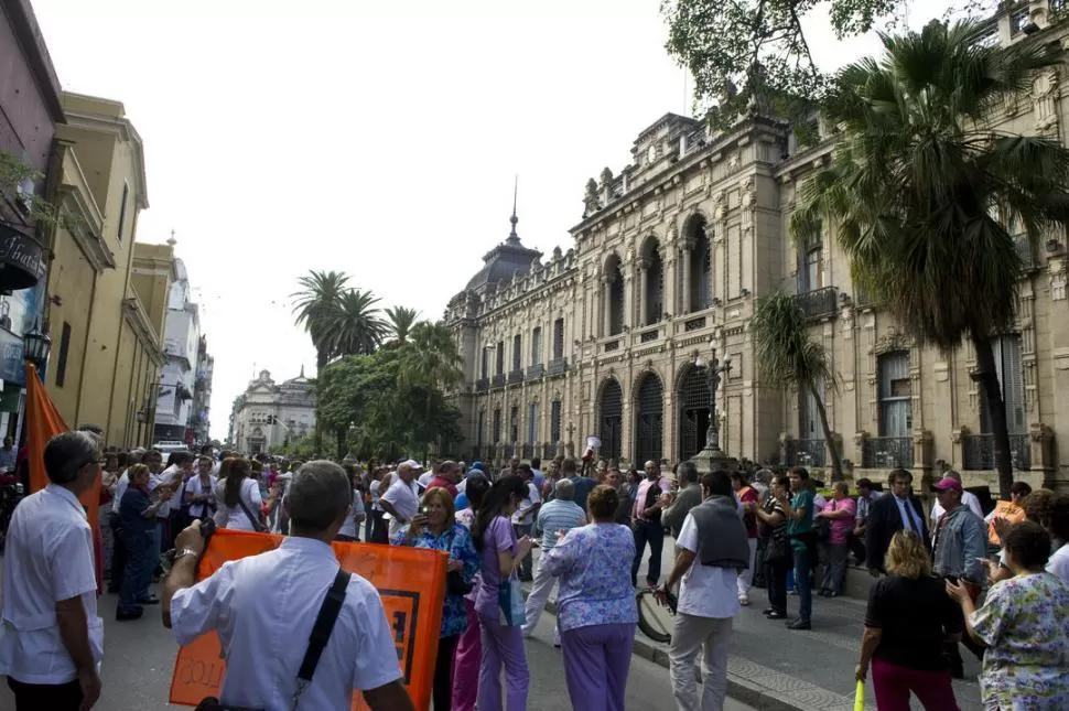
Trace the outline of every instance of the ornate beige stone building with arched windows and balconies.
<instances>
[{"instance_id":1,"label":"ornate beige stone building with arched windows and balconies","mask_svg":"<svg viewBox=\"0 0 1069 711\"><path fill-rule=\"evenodd\" d=\"M1035 6L1035 7L1032 7ZM1046 2L1003 11L993 41L1062 42L1044 29ZM1032 12L1029 15L1028 12ZM1007 101L996 127L1066 139L1061 72ZM823 434L805 395L763 387L749 322L756 300L797 293L831 355L828 416L847 472L926 474L947 463L994 484L987 416L971 346L920 347L851 281L827 227L801 247L788 234L800 186L830 160L834 136L798 147L781 121L749 117L725 132L668 114L635 140L619 174L586 185L574 244L548 259L515 230L446 309L465 362L458 405L472 455L581 453L641 462L688 459L704 444L708 368L730 360L716 392L721 444L733 456L824 465ZM1069 488L1069 301L1063 230L1033 252L1018 317L993 335L1018 475ZM952 284L948 284L952 288Z\"/></svg>"}]
</instances>

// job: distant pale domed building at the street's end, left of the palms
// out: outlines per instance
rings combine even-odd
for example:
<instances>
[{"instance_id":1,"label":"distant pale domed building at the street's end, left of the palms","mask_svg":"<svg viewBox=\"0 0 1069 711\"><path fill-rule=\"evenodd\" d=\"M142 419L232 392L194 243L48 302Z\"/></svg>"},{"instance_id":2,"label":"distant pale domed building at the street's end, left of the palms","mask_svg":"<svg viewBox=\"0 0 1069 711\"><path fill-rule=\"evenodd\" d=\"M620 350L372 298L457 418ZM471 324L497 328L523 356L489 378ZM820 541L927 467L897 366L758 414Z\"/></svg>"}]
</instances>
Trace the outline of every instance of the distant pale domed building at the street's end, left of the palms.
<instances>
[{"instance_id":1,"label":"distant pale domed building at the street's end, left of the palms","mask_svg":"<svg viewBox=\"0 0 1069 711\"><path fill-rule=\"evenodd\" d=\"M282 385L261 370L234 400L229 441L246 454L257 454L306 437L314 429L315 391L304 368Z\"/></svg>"}]
</instances>

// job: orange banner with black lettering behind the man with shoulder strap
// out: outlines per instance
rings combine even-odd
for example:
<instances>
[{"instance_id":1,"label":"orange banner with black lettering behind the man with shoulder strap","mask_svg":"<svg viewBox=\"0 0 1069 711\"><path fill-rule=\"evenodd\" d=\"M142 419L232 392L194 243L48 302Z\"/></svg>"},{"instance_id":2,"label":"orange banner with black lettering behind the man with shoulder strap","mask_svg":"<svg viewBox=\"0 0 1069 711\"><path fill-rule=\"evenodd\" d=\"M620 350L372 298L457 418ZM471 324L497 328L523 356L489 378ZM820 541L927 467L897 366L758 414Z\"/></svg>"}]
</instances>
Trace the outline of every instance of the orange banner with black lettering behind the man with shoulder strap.
<instances>
[{"instance_id":1,"label":"orange banner with black lettering behind the man with shoulder strap","mask_svg":"<svg viewBox=\"0 0 1069 711\"><path fill-rule=\"evenodd\" d=\"M281 541L282 536L268 534L216 531L201 559L199 579L228 560L269 551ZM379 591L393 631L404 687L417 709L430 708L447 557L426 549L375 543L334 543L334 552L342 568L363 575ZM179 649L171 677L171 703L195 707L206 697L218 698L226 674L222 651L215 633L201 635ZM360 693L353 694L352 711L368 711Z\"/></svg>"}]
</instances>

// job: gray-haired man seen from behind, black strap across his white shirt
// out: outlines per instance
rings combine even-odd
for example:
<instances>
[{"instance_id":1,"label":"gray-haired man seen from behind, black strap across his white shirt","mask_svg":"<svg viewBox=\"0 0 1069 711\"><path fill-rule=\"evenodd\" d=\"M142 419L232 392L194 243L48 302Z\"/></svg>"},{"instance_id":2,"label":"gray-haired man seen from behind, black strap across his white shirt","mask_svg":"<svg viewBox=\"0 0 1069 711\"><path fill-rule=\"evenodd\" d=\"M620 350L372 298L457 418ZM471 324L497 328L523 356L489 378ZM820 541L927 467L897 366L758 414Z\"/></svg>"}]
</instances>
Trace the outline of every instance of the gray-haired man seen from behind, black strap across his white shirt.
<instances>
[{"instance_id":1,"label":"gray-haired man seen from behind, black strap across his white shirt","mask_svg":"<svg viewBox=\"0 0 1069 711\"><path fill-rule=\"evenodd\" d=\"M222 704L269 711L291 704L348 709L359 689L372 711L412 711L378 591L342 571L331 548L352 498L345 470L333 462L309 462L282 502L290 518L282 543L228 561L201 582L201 523L179 535L164 584L163 625L183 645L218 633L227 660ZM326 595L339 596L342 608L315 674L302 686L298 674L306 648L298 640L310 639Z\"/></svg>"}]
</instances>

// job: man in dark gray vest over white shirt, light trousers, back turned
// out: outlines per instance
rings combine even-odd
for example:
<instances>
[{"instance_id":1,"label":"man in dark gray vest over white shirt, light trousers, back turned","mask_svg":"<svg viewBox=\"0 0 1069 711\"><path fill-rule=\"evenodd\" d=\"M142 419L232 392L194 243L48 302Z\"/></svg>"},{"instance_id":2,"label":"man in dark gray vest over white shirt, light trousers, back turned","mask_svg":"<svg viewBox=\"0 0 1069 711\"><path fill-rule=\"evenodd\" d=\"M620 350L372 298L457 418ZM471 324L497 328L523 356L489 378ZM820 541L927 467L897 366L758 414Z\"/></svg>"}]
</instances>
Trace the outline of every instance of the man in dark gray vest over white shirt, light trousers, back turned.
<instances>
[{"instance_id":1,"label":"man in dark gray vest over white shirt, light trousers, back turned","mask_svg":"<svg viewBox=\"0 0 1069 711\"><path fill-rule=\"evenodd\" d=\"M679 711L719 711L727 696L727 643L738 612L738 571L749 565L746 526L738 515L727 472L701 480L703 500L687 514L676 539L676 565L657 596L666 601L679 581L676 627L669 647L672 696ZM694 662L702 659L698 700Z\"/></svg>"}]
</instances>

